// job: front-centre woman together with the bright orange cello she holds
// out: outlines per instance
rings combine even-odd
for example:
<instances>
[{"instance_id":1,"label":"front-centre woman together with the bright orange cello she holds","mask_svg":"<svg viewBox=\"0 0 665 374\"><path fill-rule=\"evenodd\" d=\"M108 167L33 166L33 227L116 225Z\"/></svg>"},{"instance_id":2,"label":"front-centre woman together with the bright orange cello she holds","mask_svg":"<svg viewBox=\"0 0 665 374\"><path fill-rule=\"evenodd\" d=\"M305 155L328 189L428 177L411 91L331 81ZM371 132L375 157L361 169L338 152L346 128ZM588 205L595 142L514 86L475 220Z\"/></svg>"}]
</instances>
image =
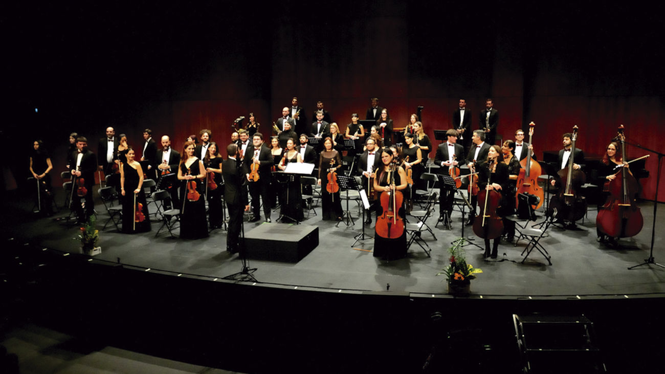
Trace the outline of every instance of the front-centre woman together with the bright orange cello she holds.
<instances>
[{"instance_id":1,"label":"front-centre woman together with the bright orange cello she holds","mask_svg":"<svg viewBox=\"0 0 665 374\"><path fill-rule=\"evenodd\" d=\"M390 149L381 152L381 166L376 170L374 190L381 202L374 228L374 257L396 260L406 256L404 199L406 172L394 162Z\"/></svg>"}]
</instances>

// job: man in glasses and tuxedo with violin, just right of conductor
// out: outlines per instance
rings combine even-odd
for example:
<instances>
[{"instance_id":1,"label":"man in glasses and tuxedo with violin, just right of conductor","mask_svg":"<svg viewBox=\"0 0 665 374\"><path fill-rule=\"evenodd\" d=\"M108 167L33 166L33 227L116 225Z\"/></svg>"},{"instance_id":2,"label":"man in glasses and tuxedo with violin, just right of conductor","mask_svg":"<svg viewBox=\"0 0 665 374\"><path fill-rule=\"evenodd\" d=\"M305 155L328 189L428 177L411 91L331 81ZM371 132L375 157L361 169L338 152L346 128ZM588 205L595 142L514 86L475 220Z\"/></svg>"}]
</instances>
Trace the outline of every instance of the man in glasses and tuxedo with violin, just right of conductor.
<instances>
[{"instance_id":1,"label":"man in glasses and tuxedo with violin, just right of conductor","mask_svg":"<svg viewBox=\"0 0 665 374\"><path fill-rule=\"evenodd\" d=\"M251 172L251 164L259 165L259 180L250 180L249 172ZM250 222L257 222L261 219L259 215L259 208L261 208L261 200L263 199L263 214L265 214L265 222L270 220L270 196L268 194L270 188L270 180L272 178L271 166L273 166L273 155L270 149L263 145L263 134L255 132L252 138L252 145L245 150L245 157L243 158L243 171L249 181L249 194L251 195L251 208L254 218Z\"/></svg>"}]
</instances>

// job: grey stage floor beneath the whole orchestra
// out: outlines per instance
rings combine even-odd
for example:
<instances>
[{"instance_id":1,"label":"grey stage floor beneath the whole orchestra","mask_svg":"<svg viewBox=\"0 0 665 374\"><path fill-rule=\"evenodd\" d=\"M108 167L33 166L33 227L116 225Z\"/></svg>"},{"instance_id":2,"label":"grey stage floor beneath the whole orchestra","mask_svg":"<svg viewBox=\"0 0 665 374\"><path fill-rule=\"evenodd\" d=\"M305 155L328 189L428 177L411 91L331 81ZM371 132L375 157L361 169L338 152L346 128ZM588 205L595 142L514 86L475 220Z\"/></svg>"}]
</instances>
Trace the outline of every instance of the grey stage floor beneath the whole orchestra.
<instances>
[{"instance_id":1,"label":"grey stage floor beneath the whole orchestra","mask_svg":"<svg viewBox=\"0 0 665 374\"><path fill-rule=\"evenodd\" d=\"M60 201L60 200L59 200ZM39 218L31 214L32 202L28 199L5 199L3 227L8 238L67 252L78 252L76 235L78 228L54 218ZM649 255L652 234L653 203L641 204L644 228L634 238L620 240L618 248L609 248L596 241L596 211L590 209L584 222L578 222L579 230L551 228L549 237L541 244L551 254L552 265L537 252L533 252L525 264L521 252L525 246L522 240L517 246L501 243L499 259L483 261L483 251L473 246L467 247L467 260L483 270L472 283L473 295L483 297L529 296L529 295L641 295L665 292L665 269L654 265L641 266L628 270L629 266L640 264ZM98 223L106 220L104 207L96 206ZM357 212L354 208L352 212ZM416 244L410 248L408 256L402 260L386 262L372 256L373 240L368 239L352 247L354 236L360 233L360 220L354 225L334 226L334 222L321 220L319 215L311 216L303 224L319 226L319 246L297 264L251 260L257 268L254 276L261 283L281 285L323 287L337 290L384 291L386 293L446 293L446 283L436 276L448 262L446 248L461 234L461 215L453 214L452 230L443 230L441 225L434 228L438 240L424 234L423 238L432 248L432 257ZM7 214L13 214L8 216ZM277 217L273 212L273 220ZM438 216L438 209L435 214ZM663 232L660 222L664 222L665 207L660 206L656 221L654 257L665 263ZM436 217L428 221L436 224ZM245 223L245 230L255 228L259 223ZM96 258L122 264L166 270L176 273L196 274L211 278L222 278L241 270L237 255L225 251L226 233L223 230L211 232L209 238L201 240L180 240L169 238L168 234L154 234L158 223L152 225L152 232L126 235L106 228L100 232L102 254ZM366 233L373 234L372 226L366 226ZM466 236L473 238L470 227ZM481 240L475 240L482 244ZM390 289L386 291L386 285Z\"/></svg>"}]
</instances>

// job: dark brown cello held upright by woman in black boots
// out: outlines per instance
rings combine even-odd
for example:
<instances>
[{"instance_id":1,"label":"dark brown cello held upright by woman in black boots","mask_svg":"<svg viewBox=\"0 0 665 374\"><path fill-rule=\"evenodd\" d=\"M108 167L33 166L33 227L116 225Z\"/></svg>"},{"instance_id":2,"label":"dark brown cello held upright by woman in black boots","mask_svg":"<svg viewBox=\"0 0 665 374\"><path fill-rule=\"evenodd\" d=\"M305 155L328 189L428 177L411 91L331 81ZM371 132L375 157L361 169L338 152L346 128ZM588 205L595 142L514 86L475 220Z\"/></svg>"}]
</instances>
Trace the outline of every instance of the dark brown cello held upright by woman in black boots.
<instances>
[{"instance_id":1,"label":"dark brown cello held upright by woman in black boots","mask_svg":"<svg viewBox=\"0 0 665 374\"><path fill-rule=\"evenodd\" d=\"M488 166L487 186L490 186L493 171L496 170L495 160L489 160ZM479 206L480 214L473 221L473 234L488 240L499 238L503 233L503 219L497 214L497 210L501 208L501 193L485 188L478 192L478 201L484 203Z\"/></svg>"}]
</instances>

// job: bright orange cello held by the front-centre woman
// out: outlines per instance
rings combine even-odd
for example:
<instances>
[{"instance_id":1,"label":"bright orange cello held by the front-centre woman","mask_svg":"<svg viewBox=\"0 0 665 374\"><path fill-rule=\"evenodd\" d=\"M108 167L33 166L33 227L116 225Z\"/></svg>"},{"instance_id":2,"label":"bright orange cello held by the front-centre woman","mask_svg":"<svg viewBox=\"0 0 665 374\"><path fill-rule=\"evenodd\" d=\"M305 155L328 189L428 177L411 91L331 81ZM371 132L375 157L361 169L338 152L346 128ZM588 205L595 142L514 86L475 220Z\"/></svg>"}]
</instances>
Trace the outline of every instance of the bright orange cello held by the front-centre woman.
<instances>
[{"instance_id":1,"label":"bright orange cello held by the front-centre woman","mask_svg":"<svg viewBox=\"0 0 665 374\"><path fill-rule=\"evenodd\" d=\"M395 188L396 172L398 172L397 164L391 164L387 177L390 191L381 194L383 212L376 219L375 229L376 234L382 238L399 238L404 234L404 219L399 214L404 195Z\"/></svg>"}]
</instances>

